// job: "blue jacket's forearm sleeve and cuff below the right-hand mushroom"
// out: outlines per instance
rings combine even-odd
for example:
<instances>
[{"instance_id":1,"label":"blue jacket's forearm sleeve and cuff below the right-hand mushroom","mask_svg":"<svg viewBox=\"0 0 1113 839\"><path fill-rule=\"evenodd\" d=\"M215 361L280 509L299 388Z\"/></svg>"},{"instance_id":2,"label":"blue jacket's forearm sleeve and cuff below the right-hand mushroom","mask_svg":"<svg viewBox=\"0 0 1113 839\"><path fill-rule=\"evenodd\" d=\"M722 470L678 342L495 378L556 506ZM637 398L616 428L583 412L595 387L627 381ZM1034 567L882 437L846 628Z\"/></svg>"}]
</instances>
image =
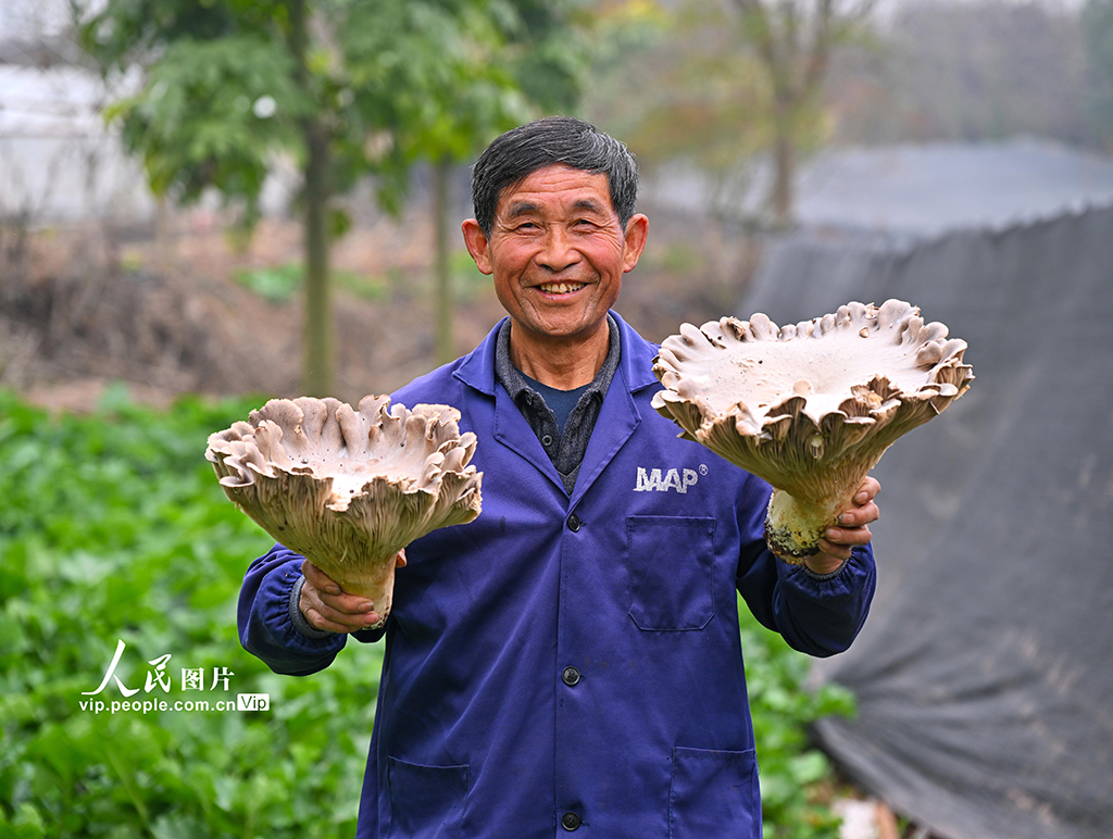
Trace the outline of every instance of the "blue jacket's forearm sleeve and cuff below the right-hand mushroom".
<instances>
[{"instance_id":1,"label":"blue jacket's forearm sleeve and cuff below the right-hand mushroom","mask_svg":"<svg viewBox=\"0 0 1113 839\"><path fill-rule=\"evenodd\" d=\"M764 483L757 482L754 483ZM768 492L765 493L768 501ZM866 622L877 583L874 552L855 547L831 574L778 560L765 543L765 503L745 504L738 591L754 616L789 646L826 658L845 651Z\"/></svg>"}]
</instances>

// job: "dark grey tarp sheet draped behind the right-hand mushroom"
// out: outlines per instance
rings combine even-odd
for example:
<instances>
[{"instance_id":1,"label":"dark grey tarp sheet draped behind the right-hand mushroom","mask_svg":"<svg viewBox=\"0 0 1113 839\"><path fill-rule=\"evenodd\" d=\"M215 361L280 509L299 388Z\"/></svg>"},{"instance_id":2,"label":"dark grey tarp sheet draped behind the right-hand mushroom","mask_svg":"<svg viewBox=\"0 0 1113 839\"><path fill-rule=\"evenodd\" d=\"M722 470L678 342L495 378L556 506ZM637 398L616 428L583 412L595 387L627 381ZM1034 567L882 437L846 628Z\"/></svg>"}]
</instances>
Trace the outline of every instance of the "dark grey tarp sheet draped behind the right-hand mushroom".
<instances>
[{"instance_id":1,"label":"dark grey tarp sheet draped behind the right-hand mushroom","mask_svg":"<svg viewBox=\"0 0 1113 839\"><path fill-rule=\"evenodd\" d=\"M739 315L897 297L976 381L875 470L879 588L820 744L952 839L1113 837L1113 209L897 245L797 234Z\"/></svg>"}]
</instances>

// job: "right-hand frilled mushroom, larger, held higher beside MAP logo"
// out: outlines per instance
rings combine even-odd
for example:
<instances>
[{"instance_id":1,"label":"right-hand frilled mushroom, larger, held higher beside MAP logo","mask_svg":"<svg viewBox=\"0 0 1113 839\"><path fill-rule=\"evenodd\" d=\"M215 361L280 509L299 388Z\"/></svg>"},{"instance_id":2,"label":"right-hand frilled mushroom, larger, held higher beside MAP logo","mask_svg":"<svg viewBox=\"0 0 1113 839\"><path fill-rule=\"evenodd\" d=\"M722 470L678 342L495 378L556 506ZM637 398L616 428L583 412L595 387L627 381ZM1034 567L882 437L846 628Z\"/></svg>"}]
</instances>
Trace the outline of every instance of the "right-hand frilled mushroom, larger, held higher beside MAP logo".
<instances>
[{"instance_id":1,"label":"right-hand frilled mushroom, larger, held higher beside MAP logo","mask_svg":"<svg viewBox=\"0 0 1113 839\"><path fill-rule=\"evenodd\" d=\"M800 564L885 450L967 389L965 351L903 300L782 327L761 314L684 324L654 361L653 407L772 484L766 541Z\"/></svg>"}]
</instances>

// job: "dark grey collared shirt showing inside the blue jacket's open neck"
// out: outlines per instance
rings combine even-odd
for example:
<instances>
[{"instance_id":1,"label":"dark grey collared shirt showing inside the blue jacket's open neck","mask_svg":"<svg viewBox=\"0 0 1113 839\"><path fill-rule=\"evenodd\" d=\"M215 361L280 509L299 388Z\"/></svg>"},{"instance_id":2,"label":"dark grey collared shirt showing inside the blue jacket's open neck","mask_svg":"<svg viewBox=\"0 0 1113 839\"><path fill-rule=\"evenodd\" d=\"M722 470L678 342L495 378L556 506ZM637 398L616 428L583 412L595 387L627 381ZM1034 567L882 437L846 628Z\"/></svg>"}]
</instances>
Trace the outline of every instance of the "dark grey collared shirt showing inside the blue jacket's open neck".
<instances>
[{"instance_id":1,"label":"dark grey collared shirt showing inside the blue jacket's open neck","mask_svg":"<svg viewBox=\"0 0 1113 839\"><path fill-rule=\"evenodd\" d=\"M595 378L583 388L575 407L568 415L563 431L556 421L556 415L545 403L544 396L530 385L531 379L523 374L513 362L510 361L510 320L499 329L499 343L495 348L494 372L506 393L522 412L525 422L530 424L533 433L538 435L542 448L549 455L553 466L564 484L564 491L571 495L572 487L575 486L575 477L580 474L580 464L583 462L584 452L588 451L588 441L591 440L591 432L595 427L599 418L599 409L603 405L603 396L611 385L611 378L619 366L619 354L621 342L619 339L619 327L614 318L607 316L607 325L610 327L610 343L607 348L607 358L603 366L599 368Z\"/></svg>"}]
</instances>

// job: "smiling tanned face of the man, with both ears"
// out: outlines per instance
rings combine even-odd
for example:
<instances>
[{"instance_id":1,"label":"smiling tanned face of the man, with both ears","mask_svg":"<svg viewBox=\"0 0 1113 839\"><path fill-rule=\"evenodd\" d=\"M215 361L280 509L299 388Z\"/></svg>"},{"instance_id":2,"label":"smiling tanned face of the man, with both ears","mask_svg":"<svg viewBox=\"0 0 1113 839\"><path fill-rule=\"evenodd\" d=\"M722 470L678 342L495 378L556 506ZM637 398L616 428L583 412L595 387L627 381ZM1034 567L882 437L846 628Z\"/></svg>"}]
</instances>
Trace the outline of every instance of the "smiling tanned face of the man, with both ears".
<instances>
[{"instance_id":1,"label":"smiling tanned face of the man, with both ears","mask_svg":"<svg viewBox=\"0 0 1113 839\"><path fill-rule=\"evenodd\" d=\"M574 339L605 323L647 229L640 215L622 229L605 175L555 165L503 191L490 238L469 220L464 239L479 269L493 275L515 332Z\"/></svg>"}]
</instances>

